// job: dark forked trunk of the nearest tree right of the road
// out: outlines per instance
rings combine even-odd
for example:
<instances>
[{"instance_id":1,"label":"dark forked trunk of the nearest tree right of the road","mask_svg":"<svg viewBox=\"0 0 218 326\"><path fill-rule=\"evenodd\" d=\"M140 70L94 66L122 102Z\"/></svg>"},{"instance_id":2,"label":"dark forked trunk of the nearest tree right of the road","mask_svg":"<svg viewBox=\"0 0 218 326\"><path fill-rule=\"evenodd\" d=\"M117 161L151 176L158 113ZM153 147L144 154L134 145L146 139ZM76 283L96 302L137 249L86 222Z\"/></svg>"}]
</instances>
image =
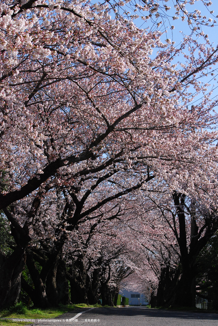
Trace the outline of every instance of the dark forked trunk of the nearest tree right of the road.
<instances>
[{"instance_id":1,"label":"dark forked trunk of the nearest tree right of the road","mask_svg":"<svg viewBox=\"0 0 218 326\"><path fill-rule=\"evenodd\" d=\"M160 282L155 299L156 302L154 298L151 299L157 306L196 306L196 275L198 273L196 257L218 229L217 218L215 218L217 213L214 211L212 213L205 213L205 216L203 216L204 225L198 230L196 223L196 202L192 200L189 209L185 205L185 198L186 196L184 194L178 194L176 192L173 194L179 227L176 226L176 215L173 214L173 225L171 225L171 229L174 231L178 242L181 267L178 267L174 272L170 271L169 267L161 270ZM187 244L185 209L191 217L191 239L189 245ZM167 220L167 222L169 221Z\"/></svg>"}]
</instances>

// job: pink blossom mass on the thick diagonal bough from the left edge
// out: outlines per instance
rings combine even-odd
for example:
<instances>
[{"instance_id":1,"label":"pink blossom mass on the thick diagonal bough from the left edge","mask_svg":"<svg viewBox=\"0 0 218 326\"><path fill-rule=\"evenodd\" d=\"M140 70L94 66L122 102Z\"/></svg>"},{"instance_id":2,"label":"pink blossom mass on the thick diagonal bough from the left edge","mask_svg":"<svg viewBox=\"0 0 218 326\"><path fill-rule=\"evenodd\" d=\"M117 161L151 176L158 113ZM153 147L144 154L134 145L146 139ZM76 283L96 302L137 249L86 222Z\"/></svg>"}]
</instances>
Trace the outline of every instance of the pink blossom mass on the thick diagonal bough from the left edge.
<instances>
[{"instance_id":1,"label":"pink blossom mass on the thick diagonal bough from the left edge","mask_svg":"<svg viewBox=\"0 0 218 326\"><path fill-rule=\"evenodd\" d=\"M216 50L196 44L196 49L202 48L200 58L189 58L187 67L177 72L169 60L177 50L171 45L166 48L160 41L160 32L146 34L133 22L123 25L121 21L114 21L107 13L107 6L79 5L78 11L84 11L83 16L87 18L74 12L77 10L74 4L72 9L45 4L35 7L32 3L28 6L30 8L21 9L15 6L7 15L2 15L8 41L2 50L5 104L2 107L1 169L8 172L5 178L12 175L8 179L10 191L2 194L1 208L36 190L57 169L67 173L69 166L76 170L78 167L74 175L80 174L86 164L78 163L104 154L96 164L102 169L103 163L104 168L111 163L111 155L122 156L129 150L134 151L135 156L137 152L141 155L146 152L146 144L143 145L146 134L176 130L176 126L181 130L182 124L187 123L187 120L181 121L181 114L186 115L186 119L194 119L189 110L177 106L182 83L186 83L185 89L187 83L194 83L199 90L192 76L214 64L217 58ZM7 7L2 10L7 11ZM89 17L96 11L96 18ZM59 13L66 19L60 21ZM51 29L49 22L53 24ZM13 24L20 24L20 29ZM55 28L58 33L53 32ZM15 35L11 30L17 31ZM74 42L74 34L78 33L80 39ZM191 38L187 41L191 42ZM11 44L14 44L12 48ZM153 46L164 51L151 60ZM193 64L197 67L192 68ZM180 79L180 76L184 77ZM183 94L185 96L185 92ZM161 123L156 121L159 109L163 110ZM137 121L134 112L137 112ZM202 127L214 121L214 117L205 118L207 121L201 123ZM108 153L109 146L111 153ZM137 146L140 150L135 149Z\"/></svg>"}]
</instances>

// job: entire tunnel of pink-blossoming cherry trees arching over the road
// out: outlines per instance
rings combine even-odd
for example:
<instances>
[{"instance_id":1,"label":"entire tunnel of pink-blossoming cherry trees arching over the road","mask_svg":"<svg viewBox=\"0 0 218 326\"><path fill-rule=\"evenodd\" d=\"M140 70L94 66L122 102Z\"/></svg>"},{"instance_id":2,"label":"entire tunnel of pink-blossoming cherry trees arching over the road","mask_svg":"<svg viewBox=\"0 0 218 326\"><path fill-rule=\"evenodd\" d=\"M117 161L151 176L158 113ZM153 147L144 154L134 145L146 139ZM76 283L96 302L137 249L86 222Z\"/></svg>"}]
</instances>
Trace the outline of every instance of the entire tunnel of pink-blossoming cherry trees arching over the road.
<instances>
[{"instance_id":1,"label":"entire tunnel of pink-blossoming cherry trees arching over the road","mask_svg":"<svg viewBox=\"0 0 218 326\"><path fill-rule=\"evenodd\" d=\"M167 2L0 3L0 209L15 242L0 252L0 307L21 286L35 305L68 302L67 280L71 301L100 289L113 304L141 261L156 286L172 270L170 293L188 282L194 304L196 257L218 229L218 47L202 31L216 20ZM178 45L164 38L179 17Z\"/></svg>"}]
</instances>

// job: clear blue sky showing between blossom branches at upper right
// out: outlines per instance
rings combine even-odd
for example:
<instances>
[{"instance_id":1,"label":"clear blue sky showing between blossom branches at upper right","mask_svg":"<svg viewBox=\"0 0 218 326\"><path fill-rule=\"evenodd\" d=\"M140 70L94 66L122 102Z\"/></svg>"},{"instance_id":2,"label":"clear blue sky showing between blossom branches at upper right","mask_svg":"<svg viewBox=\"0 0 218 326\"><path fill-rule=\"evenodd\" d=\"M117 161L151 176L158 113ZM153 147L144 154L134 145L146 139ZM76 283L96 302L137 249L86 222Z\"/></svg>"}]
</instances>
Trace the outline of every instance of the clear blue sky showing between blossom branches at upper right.
<instances>
[{"instance_id":1,"label":"clear blue sky showing between blossom branches at upper right","mask_svg":"<svg viewBox=\"0 0 218 326\"><path fill-rule=\"evenodd\" d=\"M167 33L162 35L162 37L161 37L162 42L166 43L165 40L167 38L169 38L171 41L175 42L174 46L178 47L180 45L182 39L183 39L183 36L190 35L191 29L190 29L190 27L189 27L189 25L187 23L187 19L185 19L185 21L182 21L181 17L179 17L179 19L173 20L172 17L175 16L175 11L176 11L176 9L174 8L173 1L175 2L175 0L167 0L167 1L166 0L156 0L156 3L159 3L160 6L163 6L163 4L164 4L164 5L167 5L167 7L171 7L171 8L169 10L167 10L167 11L164 10L164 11L161 12L161 8L159 7L157 12L155 12L153 14L153 16L156 13L160 13L160 17L157 18L157 20L156 20L156 22L160 22L160 21L162 22L162 24L159 26L159 30L162 31L162 32L164 30L167 31ZM188 1L190 1L190 0L188 0ZM204 1L209 2L209 0L204 0ZM189 12L194 12L195 9L200 10L201 16L202 17L203 16L207 17L205 19L205 23L206 23L206 22L208 22L209 18L216 19L215 17L218 15L218 5L215 3L215 1L217 1L217 0L212 0L212 1L213 1L213 3L209 7L204 6L203 3L202 3L202 0L196 0L194 5L186 4L185 8ZM102 1L102 2L105 3L104 1ZM141 0L131 0L130 3L124 3L124 6L121 6L120 10L121 10L121 12L123 10L129 11L130 15L133 15L133 14L139 15L139 18L134 19L134 22L138 27L146 29L147 31L154 30L156 28L156 24L153 23L151 21L151 19L149 19L147 21L144 21L144 20L142 20L140 18L139 10L136 11L136 12L133 11L133 9L135 8L134 5L136 3L139 3L139 2L140 2L141 5L143 5ZM211 14L210 13L211 11L214 11L214 13ZM142 11L142 10L141 10L141 13L142 13L143 16L147 16L149 14L149 12ZM163 19L163 15L165 15L164 19ZM155 19L155 17L154 17L154 19ZM218 18L216 20L218 22ZM172 25L174 26L174 29L170 28ZM212 46L214 46L216 48L217 43L218 43L218 25L214 24L214 27L199 25L199 27L200 27L200 30L198 30L198 32L203 31L204 34L208 34L208 38L209 38L210 42L213 43ZM198 38L198 43L206 43L204 37L196 37L196 38ZM158 49L156 49L156 51L158 51ZM153 56L155 55L156 51L155 51L155 49L153 50ZM186 54L188 54L188 49L185 49L184 52ZM197 51L196 51L196 54L197 54ZM175 59L174 63L177 63L178 61L180 61L182 63L185 63L185 59L184 59L184 57L182 57L182 55L179 58L177 57ZM214 68L216 69L216 67L214 67ZM217 66L217 69L218 69L218 66ZM216 76L218 77L218 71L217 72L216 71L211 71L211 72L214 73L214 76L212 76L211 73L210 73L207 76L201 78L200 81L203 82L203 83L209 83L211 85L211 86L207 87L208 88L207 93L209 93L211 91L212 87L215 88L214 92L213 92L213 94L211 96L211 98L214 98L214 96L215 97L218 96L218 83L217 83L217 81L215 79ZM191 87L190 87L190 91L193 91L193 93L195 92L195 90L192 89ZM203 94L199 94L194 99L194 101L190 103L190 106L192 104L197 105L202 96L203 96ZM218 112L218 108L217 108L216 111Z\"/></svg>"}]
</instances>

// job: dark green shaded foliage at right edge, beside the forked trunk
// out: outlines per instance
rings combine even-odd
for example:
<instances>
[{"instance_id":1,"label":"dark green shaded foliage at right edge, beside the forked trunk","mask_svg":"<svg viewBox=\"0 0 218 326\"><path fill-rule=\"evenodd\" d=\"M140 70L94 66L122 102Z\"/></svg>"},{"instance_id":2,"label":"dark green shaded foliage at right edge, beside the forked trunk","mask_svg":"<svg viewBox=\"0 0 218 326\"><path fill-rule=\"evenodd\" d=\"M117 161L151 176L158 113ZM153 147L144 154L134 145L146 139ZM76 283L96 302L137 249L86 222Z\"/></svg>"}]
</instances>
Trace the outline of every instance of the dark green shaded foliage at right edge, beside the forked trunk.
<instances>
[{"instance_id":1,"label":"dark green shaded foliage at right edge, beside the forked trunk","mask_svg":"<svg viewBox=\"0 0 218 326\"><path fill-rule=\"evenodd\" d=\"M197 265L197 288L208 299L208 309L218 310L218 233L198 255Z\"/></svg>"}]
</instances>

